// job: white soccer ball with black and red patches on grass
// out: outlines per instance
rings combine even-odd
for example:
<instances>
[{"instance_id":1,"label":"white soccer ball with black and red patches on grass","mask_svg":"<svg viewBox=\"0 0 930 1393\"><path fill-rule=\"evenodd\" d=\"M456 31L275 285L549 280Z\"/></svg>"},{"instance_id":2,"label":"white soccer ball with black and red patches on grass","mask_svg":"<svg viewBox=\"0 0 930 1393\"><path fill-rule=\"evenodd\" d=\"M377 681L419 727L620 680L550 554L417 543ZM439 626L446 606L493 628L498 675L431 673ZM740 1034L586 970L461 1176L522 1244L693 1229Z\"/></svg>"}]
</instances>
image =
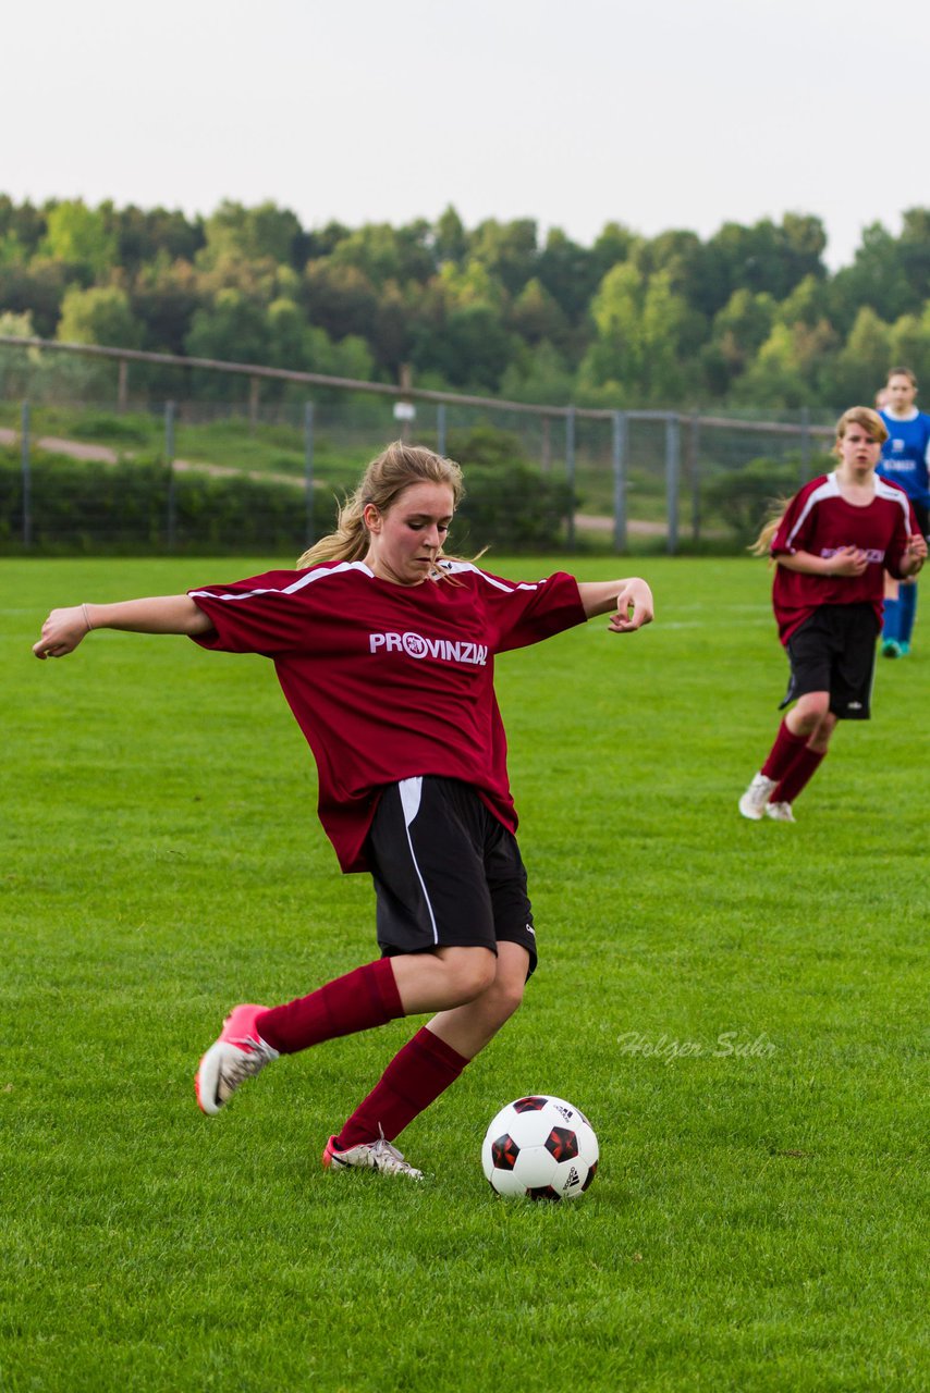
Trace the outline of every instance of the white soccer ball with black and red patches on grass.
<instances>
[{"instance_id":1,"label":"white soccer ball with black and red patches on grass","mask_svg":"<svg viewBox=\"0 0 930 1393\"><path fill-rule=\"evenodd\" d=\"M481 1148L481 1165L499 1195L576 1199L597 1173L597 1137L563 1098L533 1094L502 1107Z\"/></svg>"}]
</instances>

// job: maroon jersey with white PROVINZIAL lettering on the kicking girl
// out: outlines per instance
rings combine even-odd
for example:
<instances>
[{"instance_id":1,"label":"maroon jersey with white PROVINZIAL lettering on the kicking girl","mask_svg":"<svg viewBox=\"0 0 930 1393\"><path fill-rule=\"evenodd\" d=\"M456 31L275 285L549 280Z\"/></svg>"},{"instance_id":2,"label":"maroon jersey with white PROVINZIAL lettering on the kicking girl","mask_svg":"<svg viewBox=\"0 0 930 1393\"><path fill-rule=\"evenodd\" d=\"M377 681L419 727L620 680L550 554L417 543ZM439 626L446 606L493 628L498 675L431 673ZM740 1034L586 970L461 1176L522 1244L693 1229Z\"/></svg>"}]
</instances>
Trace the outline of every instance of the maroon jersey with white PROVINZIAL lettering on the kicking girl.
<instances>
[{"instance_id":1,"label":"maroon jersey with white PROVINZIAL lettering on the kicking girl","mask_svg":"<svg viewBox=\"0 0 930 1393\"><path fill-rule=\"evenodd\" d=\"M516 830L494 655L586 618L565 573L523 585L443 566L452 579L410 586L363 561L326 561L188 592L213 625L198 644L273 659L343 871L365 869L383 786L417 775L463 779Z\"/></svg>"}]
</instances>

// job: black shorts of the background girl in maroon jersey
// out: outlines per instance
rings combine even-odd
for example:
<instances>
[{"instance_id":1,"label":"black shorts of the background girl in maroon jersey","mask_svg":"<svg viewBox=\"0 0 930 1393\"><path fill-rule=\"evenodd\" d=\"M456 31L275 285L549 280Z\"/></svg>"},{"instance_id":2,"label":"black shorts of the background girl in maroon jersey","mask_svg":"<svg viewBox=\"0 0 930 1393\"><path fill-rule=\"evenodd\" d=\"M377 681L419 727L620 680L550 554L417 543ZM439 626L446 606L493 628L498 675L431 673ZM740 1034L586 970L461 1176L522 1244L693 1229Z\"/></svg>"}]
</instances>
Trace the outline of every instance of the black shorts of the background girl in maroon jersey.
<instances>
[{"instance_id":1,"label":"black shorts of the background girl in maroon jersey","mask_svg":"<svg viewBox=\"0 0 930 1393\"><path fill-rule=\"evenodd\" d=\"M869 720L878 620L871 605L821 605L785 645L791 663L779 710L807 692L830 692L841 720Z\"/></svg>"}]
</instances>

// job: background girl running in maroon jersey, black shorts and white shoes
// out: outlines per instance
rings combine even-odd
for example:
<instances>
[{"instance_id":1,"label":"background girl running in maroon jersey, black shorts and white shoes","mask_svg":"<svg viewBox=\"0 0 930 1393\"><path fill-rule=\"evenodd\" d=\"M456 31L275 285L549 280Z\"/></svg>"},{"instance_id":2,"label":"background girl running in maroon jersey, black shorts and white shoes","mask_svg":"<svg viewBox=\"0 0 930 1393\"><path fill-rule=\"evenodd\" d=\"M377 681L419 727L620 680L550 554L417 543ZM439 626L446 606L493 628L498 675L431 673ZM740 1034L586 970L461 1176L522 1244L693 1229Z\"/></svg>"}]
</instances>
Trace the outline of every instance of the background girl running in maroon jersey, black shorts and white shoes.
<instances>
[{"instance_id":1,"label":"background girl running in maroon jersey, black shorts and white shoes","mask_svg":"<svg viewBox=\"0 0 930 1393\"><path fill-rule=\"evenodd\" d=\"M869 407L837 423L832 474L806 483L763 528L775 560L772 603L791 683L765 763L739 800L745 818L793 822L792 804L827 754L838 720L869 720L883 570L916 575L927 543L904 489L876 475L888 432Z\"/></svg>"}]
</instances>

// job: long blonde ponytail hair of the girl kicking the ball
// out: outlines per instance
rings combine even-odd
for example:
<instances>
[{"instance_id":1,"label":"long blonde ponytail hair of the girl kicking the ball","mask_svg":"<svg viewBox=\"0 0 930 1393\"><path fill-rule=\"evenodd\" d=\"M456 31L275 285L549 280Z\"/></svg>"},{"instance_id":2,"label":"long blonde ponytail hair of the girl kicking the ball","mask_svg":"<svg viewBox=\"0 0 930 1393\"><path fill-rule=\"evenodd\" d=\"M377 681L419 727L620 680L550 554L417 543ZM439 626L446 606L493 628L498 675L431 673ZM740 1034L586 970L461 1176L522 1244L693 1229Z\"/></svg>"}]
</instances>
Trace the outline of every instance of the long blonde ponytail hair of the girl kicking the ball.
<instances>
[{"instance_id":1,"label":"long blonde ponytail hair of the girl kicking the ball","mask_svg":"<svg viewBox=\"0 0 930 1393\"><path fill-rule=\"evenodd\" d=\"M317 561L361 561L368 552L368 528L363 513L369 503L388 513L413 483L445 483L452 489L453 507L464 493L462 469L422 446L395 440L372 460L356 492L339 510L336 531L321 538L298 559L298 568ZM439 573L438 573L439 574Z\"/></svg>"}]
</instances>

